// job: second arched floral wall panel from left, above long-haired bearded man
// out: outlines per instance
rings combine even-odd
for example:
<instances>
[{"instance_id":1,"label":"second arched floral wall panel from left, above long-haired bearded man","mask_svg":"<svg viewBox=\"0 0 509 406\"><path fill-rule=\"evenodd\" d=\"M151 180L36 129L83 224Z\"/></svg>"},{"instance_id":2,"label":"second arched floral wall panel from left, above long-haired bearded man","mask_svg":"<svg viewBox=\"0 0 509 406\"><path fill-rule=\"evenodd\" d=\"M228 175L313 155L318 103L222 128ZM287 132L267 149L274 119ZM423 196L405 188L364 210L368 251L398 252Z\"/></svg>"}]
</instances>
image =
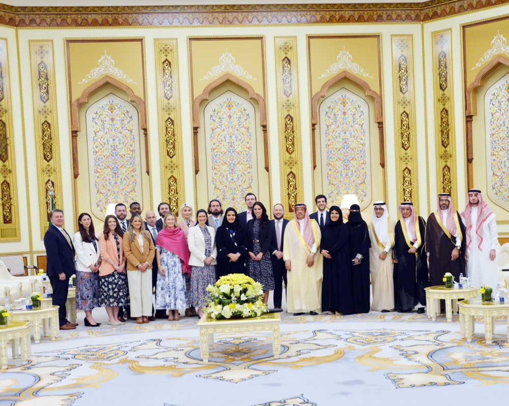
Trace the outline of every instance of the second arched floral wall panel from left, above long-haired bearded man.
<instances>
[{"instance_id":1,"label":"second arched floral wall panel from left, above long-haired bearded man","mask_svg":"<svg viewBox=\"0 0 509 406\"><path fill-rule=\"evenodd\" d=\"M223 207L244 209L244 195L253 182L251 118L231 97L210 115L213 196Z\"/></svg>"}]
</instances>

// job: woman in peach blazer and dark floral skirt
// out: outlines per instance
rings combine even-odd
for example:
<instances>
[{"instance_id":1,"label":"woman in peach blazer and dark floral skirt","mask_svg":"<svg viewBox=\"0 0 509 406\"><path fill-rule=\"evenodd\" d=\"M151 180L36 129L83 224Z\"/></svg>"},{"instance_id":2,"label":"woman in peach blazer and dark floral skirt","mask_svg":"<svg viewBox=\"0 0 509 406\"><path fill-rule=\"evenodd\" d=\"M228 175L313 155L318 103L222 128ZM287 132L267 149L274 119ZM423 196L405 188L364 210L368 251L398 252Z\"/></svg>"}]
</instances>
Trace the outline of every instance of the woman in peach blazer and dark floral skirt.
<instances>
[{"instance_id":1,"label":"woman in peach blazer and dark floral skirt","mask_svg":"<svg viewBox=\"0 0 509 406\"><path fill-rule=\"evenodd\" d=\"M124 324L119 320L119 306L127 304L124 233L114 215L107 215L99 237L102 263L99 269L99 306L106 308L110 326Z\"/></svg>"}]
</instances>

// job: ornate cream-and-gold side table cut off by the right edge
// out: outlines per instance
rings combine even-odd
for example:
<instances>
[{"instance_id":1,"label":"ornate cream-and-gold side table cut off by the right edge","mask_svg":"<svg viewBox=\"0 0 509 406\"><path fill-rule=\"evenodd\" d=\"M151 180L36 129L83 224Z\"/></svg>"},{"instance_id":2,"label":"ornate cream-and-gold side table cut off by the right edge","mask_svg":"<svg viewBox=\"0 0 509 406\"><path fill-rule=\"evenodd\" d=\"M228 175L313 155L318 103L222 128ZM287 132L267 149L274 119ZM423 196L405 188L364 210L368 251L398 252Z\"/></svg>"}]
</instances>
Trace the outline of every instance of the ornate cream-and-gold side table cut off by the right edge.
<instances>
[{"instance_id":1,"label":"ornate cream-and-gold side table cut off by the right edge","mask_svg":"<svg viewBox=\"0 0 509 406\"><path fill-rule=\"evenodd\" d=\"M481 299L469 299L458 303L460 308L460 333L468 342L472 342L475 331L475 316L484 317L484 330L486 344L491 344L495 317L507 317L507 340L509 340L509 303L491 302L483 303Z\"/></svg>"}]
</instances>

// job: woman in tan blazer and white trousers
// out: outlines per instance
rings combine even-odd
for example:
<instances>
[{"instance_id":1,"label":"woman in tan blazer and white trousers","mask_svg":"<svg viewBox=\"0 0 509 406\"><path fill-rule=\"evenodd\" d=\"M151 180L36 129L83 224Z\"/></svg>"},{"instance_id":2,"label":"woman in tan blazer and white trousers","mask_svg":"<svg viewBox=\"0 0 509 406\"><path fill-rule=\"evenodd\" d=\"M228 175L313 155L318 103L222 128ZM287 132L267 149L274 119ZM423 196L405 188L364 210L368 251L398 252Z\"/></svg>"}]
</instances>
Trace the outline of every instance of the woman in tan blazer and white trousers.
<instances>
[{"instance_id":1,"label":"woman in tan blazer and white trousers","mask_svg":"<svg viewBox=\"0 0 509 406\"><path fill-rule=\"evenodd\" d=\"M139 214L133 214L129 230L124 234L127 258L127 281L131 300L131 316L138 324L148 323L152 315L152 261L155 246Z\"/></svg>"}]
</instances>

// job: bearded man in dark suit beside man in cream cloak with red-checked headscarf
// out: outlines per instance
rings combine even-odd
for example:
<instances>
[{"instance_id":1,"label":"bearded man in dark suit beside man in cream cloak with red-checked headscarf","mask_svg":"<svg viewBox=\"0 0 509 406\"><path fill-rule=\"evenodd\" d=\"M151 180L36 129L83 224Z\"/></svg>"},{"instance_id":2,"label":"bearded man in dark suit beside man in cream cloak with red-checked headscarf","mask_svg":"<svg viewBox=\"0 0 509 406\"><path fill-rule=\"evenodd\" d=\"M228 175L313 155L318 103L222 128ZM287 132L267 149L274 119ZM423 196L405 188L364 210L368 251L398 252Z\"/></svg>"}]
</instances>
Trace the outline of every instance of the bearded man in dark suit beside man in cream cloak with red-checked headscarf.
<instances>
[{"instance_id":1,"label":"bearded man in dark suit beside man in cream cloak with red-checked headscarf","mask_svg":"<svg viewBox=\"0 0 509 406\"><path fill-rule=\"evenodd\" d=\"M285 239L285 228L288 220L284 218L285 208L282 204L276 204L273 209L274 220L270 222L272 227L272 241L270 243L270 252L272 260L272 273L274 274L274 309L281 308L282 284L285 281L287 286L287 270L283 260L283 241ZM286 291L286 290L285 290Z\"/></svg>"}]
</instances>

